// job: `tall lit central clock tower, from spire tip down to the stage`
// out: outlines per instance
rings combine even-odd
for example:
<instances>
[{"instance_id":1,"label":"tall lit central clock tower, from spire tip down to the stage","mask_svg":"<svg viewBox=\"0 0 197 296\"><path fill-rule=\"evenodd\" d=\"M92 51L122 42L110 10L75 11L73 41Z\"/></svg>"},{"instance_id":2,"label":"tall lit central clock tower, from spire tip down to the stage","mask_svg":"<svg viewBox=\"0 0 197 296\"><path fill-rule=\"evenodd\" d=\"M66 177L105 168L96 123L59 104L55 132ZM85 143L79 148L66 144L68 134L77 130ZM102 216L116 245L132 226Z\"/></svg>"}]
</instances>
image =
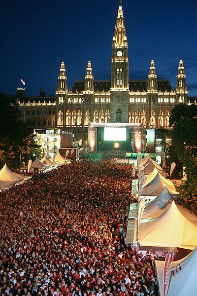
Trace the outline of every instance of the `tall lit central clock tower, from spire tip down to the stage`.
<instances>
[{"instance_id":1,"label":"tall lit central clock tower, from spire tip down to the stage","mask_svg":"<svg viewBox=\"0 0 197 296\"><path fill-rule=\"evenodd\" d=\"M110 121L128 122L129 112L129 58L128 42L122 1L118 9L111 55L111 104ZM121 116L120 116L121 112Z\"/></svg>"}]
</instances>

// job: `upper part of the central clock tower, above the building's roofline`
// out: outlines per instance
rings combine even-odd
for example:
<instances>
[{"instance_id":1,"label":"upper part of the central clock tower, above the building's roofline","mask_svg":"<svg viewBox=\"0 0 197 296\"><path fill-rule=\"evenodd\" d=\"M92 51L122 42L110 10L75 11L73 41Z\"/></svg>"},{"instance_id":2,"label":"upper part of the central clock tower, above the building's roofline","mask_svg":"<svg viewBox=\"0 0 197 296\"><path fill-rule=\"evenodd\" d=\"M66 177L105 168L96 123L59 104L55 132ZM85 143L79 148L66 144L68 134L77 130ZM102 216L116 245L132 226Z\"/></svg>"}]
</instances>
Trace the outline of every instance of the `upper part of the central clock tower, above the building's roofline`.
<instances>
[{"instance_id":1,"label":"upper part of the central clock tower, above the building's roofline","mask_svg":"<svg viewBox=\"0 0 197 296\"><path fill-rule=\"evenodd\" d=\"M120 1L115 33L112 40L111 90L129 90L128 42L122 1Z\"/></svg>"}]
</instances>

